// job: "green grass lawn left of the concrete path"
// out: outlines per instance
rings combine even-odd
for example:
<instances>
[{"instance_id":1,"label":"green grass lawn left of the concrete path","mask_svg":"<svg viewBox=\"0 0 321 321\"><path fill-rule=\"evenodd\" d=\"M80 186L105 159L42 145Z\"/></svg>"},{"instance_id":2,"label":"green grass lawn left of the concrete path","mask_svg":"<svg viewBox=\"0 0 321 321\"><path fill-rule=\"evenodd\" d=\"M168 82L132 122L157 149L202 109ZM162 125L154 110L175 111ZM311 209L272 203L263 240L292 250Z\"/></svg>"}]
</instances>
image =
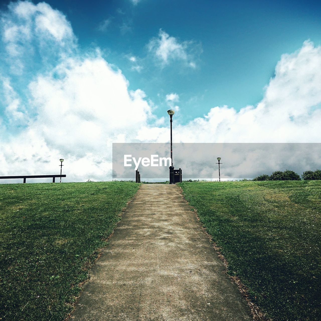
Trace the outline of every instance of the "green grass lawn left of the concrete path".
<instances>
[{"instance_id":1,"label":"green grass lawn left of the concrete path","mask_svg":"<svg viewBox=\"0 0 321 321\"><path fill-rule=\"evenodd\" d=\"M0 320L63 320L138 187L0 185Z\"/></svg>"}]
</instances>

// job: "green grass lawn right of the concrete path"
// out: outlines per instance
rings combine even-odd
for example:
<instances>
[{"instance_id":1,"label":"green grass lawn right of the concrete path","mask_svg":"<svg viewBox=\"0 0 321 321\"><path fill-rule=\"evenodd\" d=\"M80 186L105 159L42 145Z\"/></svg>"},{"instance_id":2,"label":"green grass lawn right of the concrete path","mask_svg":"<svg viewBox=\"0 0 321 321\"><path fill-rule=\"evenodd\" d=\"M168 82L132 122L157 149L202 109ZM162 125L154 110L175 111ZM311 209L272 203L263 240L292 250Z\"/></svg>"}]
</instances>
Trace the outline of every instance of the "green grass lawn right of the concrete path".
<instances>
[{"instance_id":1,"label":"green grass lawn right of the concrete path","mask_svg":"<svg viewBox=\"0 0 321 321\"><path fill-rule=\"evenodd\" d=\"M269 317L321 320L321 181L179 185Z\"/></svg>"}]
</instances>

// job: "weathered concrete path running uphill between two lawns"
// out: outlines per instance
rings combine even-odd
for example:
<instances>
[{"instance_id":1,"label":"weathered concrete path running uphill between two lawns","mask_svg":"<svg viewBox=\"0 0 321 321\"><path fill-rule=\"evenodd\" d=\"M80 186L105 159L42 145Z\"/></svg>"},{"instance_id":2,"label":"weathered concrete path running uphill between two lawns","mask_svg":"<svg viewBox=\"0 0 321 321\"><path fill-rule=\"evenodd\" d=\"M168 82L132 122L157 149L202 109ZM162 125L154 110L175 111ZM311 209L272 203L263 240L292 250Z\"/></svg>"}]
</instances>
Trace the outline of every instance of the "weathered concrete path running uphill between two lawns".
<instances>
[{"instance_id":1,"label":"weathered concrete path running uphill between two lawns","mask_svg":"<svg viewBox=\"0 0 321 321\"><path fill-rule=\"evenodd\" d=\"M84 284L74 320L252 320L179 187L143 184Z\"/></svg>"}]
</instances>

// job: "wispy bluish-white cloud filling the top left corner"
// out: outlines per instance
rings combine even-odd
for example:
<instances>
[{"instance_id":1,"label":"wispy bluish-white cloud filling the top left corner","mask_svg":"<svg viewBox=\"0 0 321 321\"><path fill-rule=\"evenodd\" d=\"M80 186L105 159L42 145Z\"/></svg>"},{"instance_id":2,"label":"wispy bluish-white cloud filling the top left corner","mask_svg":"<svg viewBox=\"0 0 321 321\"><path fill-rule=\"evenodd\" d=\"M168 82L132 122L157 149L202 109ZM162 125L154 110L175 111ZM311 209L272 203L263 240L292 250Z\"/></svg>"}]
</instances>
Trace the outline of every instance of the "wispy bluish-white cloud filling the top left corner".
<instances>
[{"instance_id":1,"label":"wispy bluish-white cloud filling the top left corner","mask_svg":"<svg viewBox=\"0 0 321 321\"><path fill-rule=\"evenodd\" d=\"M26 68L68 55L76 46L65 15L44 2L10 3L1 16L0 53L13 74L21 75Z\"/></svg>"}]
</instances>

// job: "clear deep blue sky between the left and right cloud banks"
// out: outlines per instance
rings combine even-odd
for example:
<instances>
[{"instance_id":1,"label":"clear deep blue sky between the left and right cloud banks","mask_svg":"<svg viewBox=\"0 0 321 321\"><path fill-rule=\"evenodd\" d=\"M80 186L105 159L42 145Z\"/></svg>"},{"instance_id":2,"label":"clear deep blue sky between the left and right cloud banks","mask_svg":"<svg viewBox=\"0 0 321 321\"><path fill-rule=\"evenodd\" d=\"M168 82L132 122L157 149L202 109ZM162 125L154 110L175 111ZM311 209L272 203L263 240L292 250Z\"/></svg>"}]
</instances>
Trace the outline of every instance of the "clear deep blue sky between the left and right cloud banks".
<instances>
[{"instance_id":1,"label":"clear deep blue sky between the left and right cloud banks","mask_svg":"<svg viewBox=\"0 0 321 321\"><path fill-rule=\"evenodd\" d=\"M130 89L143 89L160 106L156 115L167 108L164 96L177 93L182 123L215 106L239 110L258 103L281 55L307 39L316 45L321 40L321 4L315 1L47 3L66 15L82 50L99 46L126 75ZM179 42L191 42L195 69L179 61L160 66L150 59L147 45L160 29ZM129 56L139 59L140 72L131 70Z\"/></svg>"}]
</instances>

